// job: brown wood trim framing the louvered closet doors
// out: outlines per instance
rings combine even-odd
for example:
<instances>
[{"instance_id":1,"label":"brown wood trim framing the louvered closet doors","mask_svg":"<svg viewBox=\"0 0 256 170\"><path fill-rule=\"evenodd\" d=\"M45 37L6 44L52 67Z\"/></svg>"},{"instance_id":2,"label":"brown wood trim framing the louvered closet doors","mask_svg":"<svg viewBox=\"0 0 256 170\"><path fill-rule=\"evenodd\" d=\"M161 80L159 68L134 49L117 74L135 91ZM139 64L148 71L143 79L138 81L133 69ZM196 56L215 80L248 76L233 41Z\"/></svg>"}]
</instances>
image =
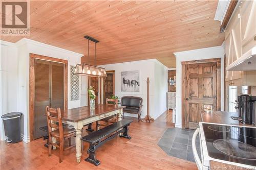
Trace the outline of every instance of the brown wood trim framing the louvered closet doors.
<instances>
[{"instance_id":1,"label":"brown wood trim framing the louvered closet doors","mask_svg":"<svg viewBox=\"0 0 256 170\"><path fill-rule=\"evenodd\" d=\"M34 91L35 91L35 60L48 60L65 64L64 76L64 109L68 110L68 60L29 54L29 137L30 141L34 140ZM31 121L32 120L32 121Z\"/></svg>"}]
</instances>

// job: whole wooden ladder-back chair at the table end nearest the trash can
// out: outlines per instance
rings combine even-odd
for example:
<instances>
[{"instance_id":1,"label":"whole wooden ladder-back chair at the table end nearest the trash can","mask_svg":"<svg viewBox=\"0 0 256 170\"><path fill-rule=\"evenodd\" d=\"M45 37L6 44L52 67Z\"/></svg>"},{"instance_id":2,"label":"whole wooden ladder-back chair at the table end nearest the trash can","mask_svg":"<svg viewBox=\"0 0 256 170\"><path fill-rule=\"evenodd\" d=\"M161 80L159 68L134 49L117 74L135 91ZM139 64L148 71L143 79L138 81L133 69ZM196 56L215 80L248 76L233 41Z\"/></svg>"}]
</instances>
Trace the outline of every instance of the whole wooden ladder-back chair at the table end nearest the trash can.
<instances>
[{"instance_id":1,"label":"whole wooden ladder-back chair at the table end nearest the trash can","mask_svg":"<svg viewBox=\"0 0 256 170\"><path fill-rule=\"evenodd\" d=\"M71 137L75 135L76 130L73 126L65 126L62 125L61 120L61 112L60 108L53 109L46 107L47 112L47 124L48 124L48 132L49 132L49 156L51 156L52 146L59 148L59 163L62 162L63 158L63 150L64 150L64 140L69 139L69 147L65 148L65 150L74 147L71 145ZM56 124L58 123L58 125ZM56 142L52 142L52 138L56 138Z\"/></svg>"}]
</instances>

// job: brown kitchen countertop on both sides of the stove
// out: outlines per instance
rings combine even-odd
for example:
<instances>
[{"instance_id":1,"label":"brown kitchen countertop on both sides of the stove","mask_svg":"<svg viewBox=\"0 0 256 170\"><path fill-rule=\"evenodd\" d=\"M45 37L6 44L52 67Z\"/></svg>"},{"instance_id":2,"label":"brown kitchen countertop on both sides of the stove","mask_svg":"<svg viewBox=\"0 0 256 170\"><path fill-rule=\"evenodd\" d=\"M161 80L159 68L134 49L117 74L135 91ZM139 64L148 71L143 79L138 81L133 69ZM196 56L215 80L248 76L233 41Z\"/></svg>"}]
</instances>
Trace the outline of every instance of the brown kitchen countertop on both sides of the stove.
<instances>
[{"instance_id":1,"label":"brown kitchen countertop on both sides of the stove","mask_svg":"<svg viewBox=\"0 0 256 170\"><path fill-rule=\"evenodd\" d=\"M212 111L210 113L201 112L202 122L205 122L205 123L239 125L239 126L246 126L246 127L253 126L253 125L241 124L238 120L233 120L232 118L230 118L230 116L238 116L238 113L225 112L225 111ZM210 160L210 169L246 169L246 168Z\"/></svg>"}]
</instances>

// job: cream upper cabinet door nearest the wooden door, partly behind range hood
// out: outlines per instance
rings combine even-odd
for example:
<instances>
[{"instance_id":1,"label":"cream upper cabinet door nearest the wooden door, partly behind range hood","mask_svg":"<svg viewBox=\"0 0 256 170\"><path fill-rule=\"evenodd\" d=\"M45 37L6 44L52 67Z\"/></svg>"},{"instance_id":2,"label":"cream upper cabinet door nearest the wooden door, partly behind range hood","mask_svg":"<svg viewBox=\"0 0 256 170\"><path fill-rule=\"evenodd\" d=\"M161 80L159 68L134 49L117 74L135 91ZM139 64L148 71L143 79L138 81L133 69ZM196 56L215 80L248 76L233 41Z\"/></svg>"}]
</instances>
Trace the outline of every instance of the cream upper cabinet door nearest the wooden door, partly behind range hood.
<instances>
[{"instance_id":1,"label":"cream upper cabinet door nearest the wooden door, partly behind range hood","mask_svg":"<svg viewBox=\"0 0 256 170\"><path fill-rule=\"evenodd\" d=\"M237 8L226 29L226 67L241 57L240 7ZM227 71L226 81L241 78L241 71Z\"/></svg>"}]
</instances>

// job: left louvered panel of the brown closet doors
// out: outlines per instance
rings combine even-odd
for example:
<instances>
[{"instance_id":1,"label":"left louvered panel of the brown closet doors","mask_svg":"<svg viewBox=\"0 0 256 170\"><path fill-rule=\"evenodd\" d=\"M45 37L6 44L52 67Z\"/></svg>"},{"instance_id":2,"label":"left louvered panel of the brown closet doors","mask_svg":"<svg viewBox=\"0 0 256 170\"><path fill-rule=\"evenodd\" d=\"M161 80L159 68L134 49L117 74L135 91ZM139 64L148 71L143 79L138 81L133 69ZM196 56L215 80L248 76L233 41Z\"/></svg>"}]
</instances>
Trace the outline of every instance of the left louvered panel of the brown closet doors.
<instances>
[{"instance_id":1,"label":"left louvered panel of the brown closet doors","mask_svg":"<svg viewBox=\"0 0 256 170\"><path fill-rule=\"evenodd\" d=\"M47 125L46 106L50 106L50 62L35 59L34 138L45 136L39 128Z\"/></svg>"}]
</instances>

